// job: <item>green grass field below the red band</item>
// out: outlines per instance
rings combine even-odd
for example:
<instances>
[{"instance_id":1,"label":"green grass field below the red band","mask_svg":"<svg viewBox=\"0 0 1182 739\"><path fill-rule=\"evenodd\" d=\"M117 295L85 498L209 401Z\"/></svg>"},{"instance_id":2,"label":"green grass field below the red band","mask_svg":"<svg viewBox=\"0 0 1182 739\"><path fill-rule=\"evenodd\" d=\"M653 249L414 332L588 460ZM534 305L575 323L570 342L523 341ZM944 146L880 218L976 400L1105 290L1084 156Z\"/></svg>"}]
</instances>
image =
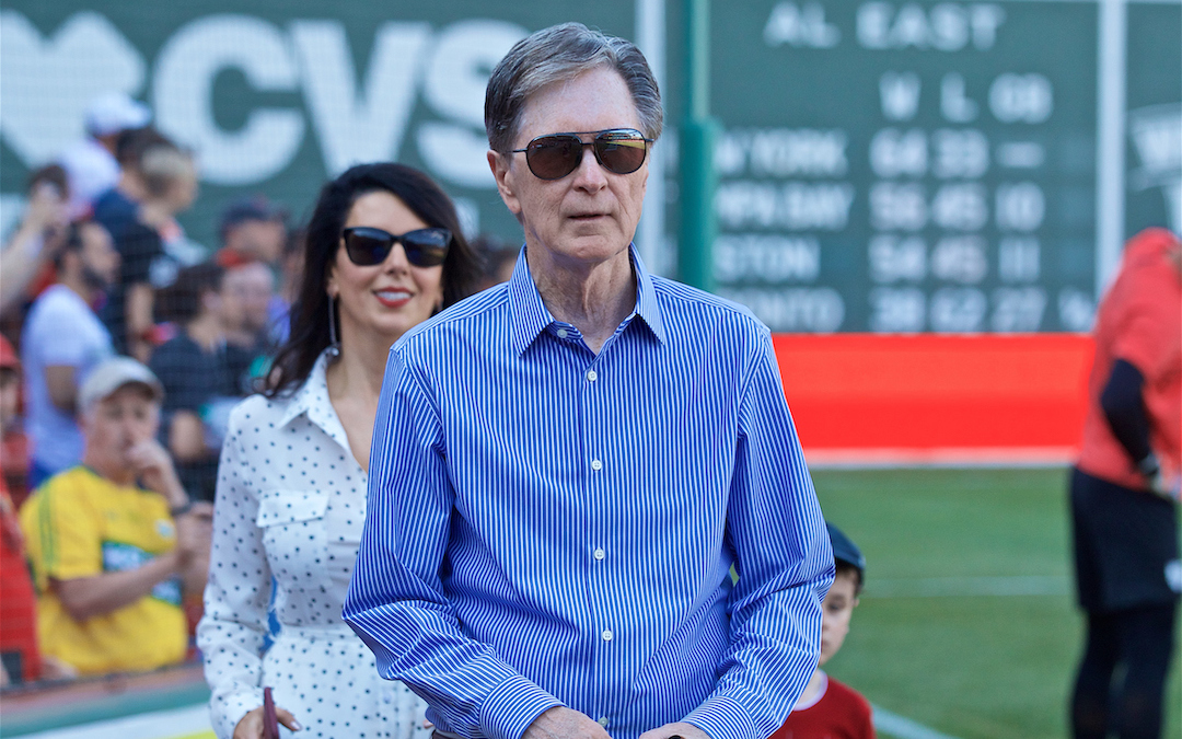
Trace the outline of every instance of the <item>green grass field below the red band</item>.
<instances>
[{"instance_id":1,"label":"green grass field below the red band","mask_svg":"<svg viewBox=\"0 0 1182 739\"><path fill-rule=\"evenodd\" d=\"M850 636L827 672L952 737L1066 737L1083 638L1066 471L827 469L813 481L825 517L868 563ZM1171 739L1182 738L1177 652Z\"/></svg>"}]
</instances>

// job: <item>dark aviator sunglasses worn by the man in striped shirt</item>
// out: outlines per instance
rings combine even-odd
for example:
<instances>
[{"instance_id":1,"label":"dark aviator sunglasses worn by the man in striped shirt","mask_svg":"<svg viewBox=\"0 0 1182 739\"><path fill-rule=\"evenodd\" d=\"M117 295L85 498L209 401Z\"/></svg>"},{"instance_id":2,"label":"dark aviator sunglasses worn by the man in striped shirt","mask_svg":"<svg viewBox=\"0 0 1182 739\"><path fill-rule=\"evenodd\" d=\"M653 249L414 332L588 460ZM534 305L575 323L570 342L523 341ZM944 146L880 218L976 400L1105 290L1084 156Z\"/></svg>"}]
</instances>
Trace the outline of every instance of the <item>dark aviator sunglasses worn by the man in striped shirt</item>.
<instances>
[{"instance_id":1,"label":"dark aviator sunglasses worn by the man in striped shirt","mask_svg":"<svg viewBox=\"0 0 1182 739\"><path fill-rule=\"evenodd\" d=\"M595 138L583 141L583 136L592 134ZM513 154L525 151L530 171L539 180L561 180L574 171L583 161L583 147L591 147L596 161L608 171L630 175L644 163L650 143L652 140L636 129L610 129L539 136L525 149L513 149Z\"/></svg>"}]
</instances>

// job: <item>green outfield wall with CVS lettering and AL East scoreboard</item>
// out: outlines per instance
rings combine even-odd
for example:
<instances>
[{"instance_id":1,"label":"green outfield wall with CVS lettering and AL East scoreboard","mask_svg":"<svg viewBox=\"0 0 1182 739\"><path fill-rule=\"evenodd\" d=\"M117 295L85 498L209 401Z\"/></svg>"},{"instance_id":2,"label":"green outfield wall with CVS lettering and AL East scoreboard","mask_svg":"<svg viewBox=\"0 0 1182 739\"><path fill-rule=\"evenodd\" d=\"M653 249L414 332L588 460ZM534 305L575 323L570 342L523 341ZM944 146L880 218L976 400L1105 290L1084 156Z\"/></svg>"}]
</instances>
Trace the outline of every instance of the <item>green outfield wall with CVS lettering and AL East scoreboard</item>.
<instances>
[{"instance_id":1,"label":"green outfield wall with CVS lettering and AL East scoreboard","mask_svg":"<svg viewBox=\"0 0 1182 739\"><path fill-rule=\"evenodd\" d=\"M234 195L299 220L325 177L379 158L520 241L485 83L524 34L580 20L635 39L665 91L637 245L675 274L683 5L11 0L0 215L117 89L197 153L182 223L207 248ZM715 1L710 38L714 285L773 331L1082 331L1124 239L1182 229L1182 1Z\"/></svg>"}]
</instances>

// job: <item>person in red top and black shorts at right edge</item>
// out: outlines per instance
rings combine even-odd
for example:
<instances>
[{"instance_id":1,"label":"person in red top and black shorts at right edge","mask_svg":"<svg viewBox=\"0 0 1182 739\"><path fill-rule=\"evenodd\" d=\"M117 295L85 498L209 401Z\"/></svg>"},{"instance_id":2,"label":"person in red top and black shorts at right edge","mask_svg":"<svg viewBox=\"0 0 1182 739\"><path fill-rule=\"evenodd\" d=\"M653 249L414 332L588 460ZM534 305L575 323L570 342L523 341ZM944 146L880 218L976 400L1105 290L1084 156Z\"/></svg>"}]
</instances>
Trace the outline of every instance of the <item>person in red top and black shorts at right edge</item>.
<instances>
[{"instance_id":1,"label":"person in red top and black shorts at right edge","mask_svg":"<svg viewBox=\"0 0 1182 739\"><path fill-rule=\"evenodd\" d=\"M1182 244L1125 246L1096 316L1084 440L1071 477L1076 584L1087 617L1071 696L1077 739L1155 738L1182 591Z\"/></svg>"}]
</instances>

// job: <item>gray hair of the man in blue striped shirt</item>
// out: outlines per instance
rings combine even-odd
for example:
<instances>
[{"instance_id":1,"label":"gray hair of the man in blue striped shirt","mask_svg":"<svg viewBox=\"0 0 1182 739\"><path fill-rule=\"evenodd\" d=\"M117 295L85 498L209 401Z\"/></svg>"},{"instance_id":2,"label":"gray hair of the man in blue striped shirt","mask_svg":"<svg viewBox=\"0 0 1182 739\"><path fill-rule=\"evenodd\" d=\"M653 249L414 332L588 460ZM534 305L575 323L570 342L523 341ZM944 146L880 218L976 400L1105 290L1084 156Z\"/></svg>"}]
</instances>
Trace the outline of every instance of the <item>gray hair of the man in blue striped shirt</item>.
<instances>
[{"instance_id":1,"label":"gray hair of the man in blue striped shirt","mask_svg":"<svg viewBox=\"0 0 1182 739\"><path fill-rule=\"evenodd\" d=\"M664 114L657 80L644 54L631 41L570 22L543 28L521 39L493 70L485 90L485 131L489 148L501 154L513 148L521 111L531 95L551 83L566 82L600 66L623 77L641 119L641 132L656 141Z\"/></svg>"}]
</instances>

